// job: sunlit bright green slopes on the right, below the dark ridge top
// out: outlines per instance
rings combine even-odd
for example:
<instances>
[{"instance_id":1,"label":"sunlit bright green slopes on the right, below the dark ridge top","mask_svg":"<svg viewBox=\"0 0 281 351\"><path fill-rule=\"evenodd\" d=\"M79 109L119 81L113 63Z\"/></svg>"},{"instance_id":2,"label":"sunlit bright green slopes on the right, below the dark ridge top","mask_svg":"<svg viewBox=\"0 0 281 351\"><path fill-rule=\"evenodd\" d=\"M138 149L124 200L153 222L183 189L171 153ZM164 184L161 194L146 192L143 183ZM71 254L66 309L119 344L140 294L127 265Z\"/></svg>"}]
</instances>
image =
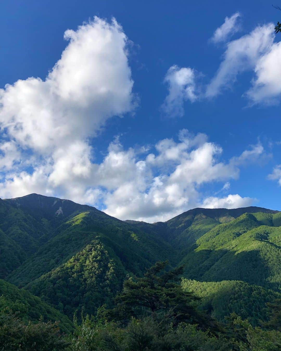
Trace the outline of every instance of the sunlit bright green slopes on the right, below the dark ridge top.
<instances>
[{"instance_id":1,"label":"sunlit bright green slopes on the right, below the dark ridge top","mask_svg":"<svg viewBox=\"0 0 281 351\"><path fill-rule=\"evenodd\" d=\"M278 221L279 213L272 214ZM243 280L276 291L281 287L281 227L261 225L265 214L243 214L196 241L182 260L187 277L201 281Z\"/></svg>"}]
</instances>

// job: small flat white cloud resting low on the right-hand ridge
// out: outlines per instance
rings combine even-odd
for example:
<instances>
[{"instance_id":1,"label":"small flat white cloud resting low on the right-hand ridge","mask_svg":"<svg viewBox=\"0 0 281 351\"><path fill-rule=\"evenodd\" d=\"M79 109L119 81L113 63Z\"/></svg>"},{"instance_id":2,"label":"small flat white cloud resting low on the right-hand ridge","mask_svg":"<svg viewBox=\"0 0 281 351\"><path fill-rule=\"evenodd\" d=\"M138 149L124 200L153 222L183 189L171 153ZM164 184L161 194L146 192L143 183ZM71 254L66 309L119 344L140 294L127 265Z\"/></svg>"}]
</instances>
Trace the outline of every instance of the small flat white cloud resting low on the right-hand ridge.
<instances>
[{"instance_id":1,"label":"small flat white cloud resting low on the right-hand ridge","mask_svg":"<svg viewBox=\"0 0 281 351\"><path fill-rule=\"evenodd\" d=\"M256 199L249 197L242 198L238 194L230 194L223 198L218 197L208 197L204 199L201 207L204 208L238 208L238 207L247 207L251 206Z\"/></svg>"}]
</instances>

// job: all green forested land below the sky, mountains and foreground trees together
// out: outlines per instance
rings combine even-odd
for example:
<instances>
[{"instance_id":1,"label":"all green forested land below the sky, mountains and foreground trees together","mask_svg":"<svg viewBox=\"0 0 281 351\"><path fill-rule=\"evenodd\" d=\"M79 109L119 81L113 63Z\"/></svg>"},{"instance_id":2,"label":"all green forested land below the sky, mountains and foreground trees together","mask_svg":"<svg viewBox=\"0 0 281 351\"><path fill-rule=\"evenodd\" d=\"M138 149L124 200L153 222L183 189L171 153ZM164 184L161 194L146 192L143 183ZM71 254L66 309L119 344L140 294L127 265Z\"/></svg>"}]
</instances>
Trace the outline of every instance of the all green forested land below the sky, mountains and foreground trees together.
<instances>
[{"instance_id":1,"label":"all green forested land below the sky, mountains and foreground trees together","mask_svg":"<svg viewBox=\"0 0 281 351\"><path fill-rule=\"evenodd\" d=\"M0 350L280 350L281 212L0 199Z\"/></svg>"}]
</instances>

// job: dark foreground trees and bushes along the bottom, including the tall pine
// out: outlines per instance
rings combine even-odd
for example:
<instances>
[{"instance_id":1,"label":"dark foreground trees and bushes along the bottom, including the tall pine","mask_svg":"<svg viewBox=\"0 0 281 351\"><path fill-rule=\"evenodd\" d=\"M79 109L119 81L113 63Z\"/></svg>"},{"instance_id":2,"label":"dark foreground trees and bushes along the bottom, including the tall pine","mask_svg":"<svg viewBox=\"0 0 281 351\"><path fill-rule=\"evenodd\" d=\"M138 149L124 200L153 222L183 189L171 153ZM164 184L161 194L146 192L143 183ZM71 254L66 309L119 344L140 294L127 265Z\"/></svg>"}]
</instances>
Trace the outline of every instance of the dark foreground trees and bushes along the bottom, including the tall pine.
<instances>
[{"instance_id":1,"label":"dark foreground trees and bushes along the bottom, including the tall pine","mask_svg":"<svg viewBox=\"0 0 281 351\"><path fill-rule=\"evenodd\" d=\"M280 350L281 332L272 329L276 312L269 306L268 326L253 327L231 314L226 324L200 312L198 297L176 281L182 267L163 272L157 262L144 277L129 279L115 299L113 309L102 306L96 317L74 316L72 335L61 335L56 323L27 325L9 309L0 313L2 350ZM275 302L280 310L279 301ZM279 316L279 314L277 314ZM278 321L280 321L278 319Z\"/></svg>"}]
</instances>

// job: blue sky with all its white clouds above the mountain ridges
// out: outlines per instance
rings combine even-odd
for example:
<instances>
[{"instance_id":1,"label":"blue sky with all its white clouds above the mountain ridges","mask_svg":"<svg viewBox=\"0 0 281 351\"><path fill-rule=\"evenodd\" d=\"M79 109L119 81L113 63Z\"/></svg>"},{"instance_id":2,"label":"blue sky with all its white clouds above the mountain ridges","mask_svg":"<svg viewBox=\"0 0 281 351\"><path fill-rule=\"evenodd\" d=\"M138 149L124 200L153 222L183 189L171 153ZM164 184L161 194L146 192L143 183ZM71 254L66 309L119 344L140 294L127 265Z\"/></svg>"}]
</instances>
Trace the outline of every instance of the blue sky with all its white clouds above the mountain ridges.
<instances>
[{"instance_id":1,"label":"blue sky with all its white clouds above the mountain ridges","mask_svg":"<svg viewBox=\"0 0 281 351\"><path fill-rule=\"evenodd\" d=\"M150 222L281 210L280 19L267 1L2 2L0 197Z\"/></svg>"}]
</instances>

